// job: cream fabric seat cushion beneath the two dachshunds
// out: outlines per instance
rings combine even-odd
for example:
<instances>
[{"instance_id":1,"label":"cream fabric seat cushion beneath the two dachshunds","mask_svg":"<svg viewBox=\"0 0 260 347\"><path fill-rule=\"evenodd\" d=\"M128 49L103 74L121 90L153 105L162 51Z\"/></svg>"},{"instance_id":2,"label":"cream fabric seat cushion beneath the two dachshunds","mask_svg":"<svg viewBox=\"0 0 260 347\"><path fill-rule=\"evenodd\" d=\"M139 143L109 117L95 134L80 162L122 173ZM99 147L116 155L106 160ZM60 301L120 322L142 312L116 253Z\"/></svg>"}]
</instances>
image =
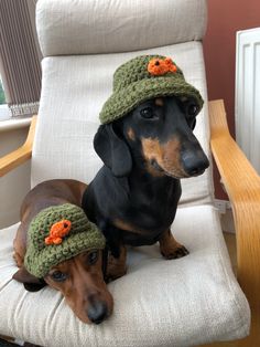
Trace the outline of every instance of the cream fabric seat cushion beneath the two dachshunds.
<instances>
[{"instance_id":1,"label":"cream fabric seat cushion beneath the two dachshunds","mask_svg":"<svg viewBox=\"0 0 260 347\"><path fill-rule=\"evenodd\" d=\"M158 244L129 250L127 275L109 284L113 314L98 326L79 322L59 292L29 293L11 280L17 227L0 231L1 335L52 347L180 347L248 334L249 306L212 206L177 211L172 231L187 256L166 261Z\"/></svg>"}]
</instances>

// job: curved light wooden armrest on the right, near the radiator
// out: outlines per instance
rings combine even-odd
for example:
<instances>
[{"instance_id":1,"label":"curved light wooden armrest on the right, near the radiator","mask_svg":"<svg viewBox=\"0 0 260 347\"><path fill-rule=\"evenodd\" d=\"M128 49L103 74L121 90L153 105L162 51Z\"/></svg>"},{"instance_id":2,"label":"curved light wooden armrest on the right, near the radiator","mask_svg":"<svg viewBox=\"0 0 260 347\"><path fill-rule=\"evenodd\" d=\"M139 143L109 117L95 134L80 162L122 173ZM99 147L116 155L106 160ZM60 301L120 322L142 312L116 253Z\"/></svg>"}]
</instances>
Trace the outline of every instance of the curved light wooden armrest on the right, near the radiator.
<instances>
[{"instance_id":1,"label":"curved light wooden armrest on the right, near the radiator","mask_svg":"<svg viewBox=\"0 0 260 347\"><path fill-rule=\"evenodd\" d=\"M232 206L238 281L252 313L250 336L241 344L260 346L260 177L229 134L223 101L209 102L209 119L212 151Z\"/></svg>"}]
</instances>

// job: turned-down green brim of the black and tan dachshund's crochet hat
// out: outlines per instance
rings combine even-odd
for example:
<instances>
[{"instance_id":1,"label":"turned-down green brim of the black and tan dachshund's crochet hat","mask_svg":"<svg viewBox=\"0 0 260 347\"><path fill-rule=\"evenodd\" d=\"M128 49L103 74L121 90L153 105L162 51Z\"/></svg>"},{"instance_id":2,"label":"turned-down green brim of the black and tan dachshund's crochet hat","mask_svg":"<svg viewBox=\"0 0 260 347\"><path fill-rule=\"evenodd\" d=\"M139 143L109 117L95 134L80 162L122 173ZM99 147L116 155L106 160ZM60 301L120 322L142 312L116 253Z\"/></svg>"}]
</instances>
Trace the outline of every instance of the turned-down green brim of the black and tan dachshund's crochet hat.
<instances>
[{"instance_id":1,"label":"turned-down green brim of the black and tan dachshund's crochet hat","mask_svg":"<svg viewBox=\"0 0 260 347\"><path fill-rule=\"evenodd\" d=\"M172 77L170 74L137 81L127 87L115 92L104 104L99 114L99 119L101 124L111 123L126 116L140 103L154 97L171 95L175 95L176 97L194 97L197 102L199 111L203 107L204 101L199 92L194 86L185 82L183 77Z\"/></svg>"}]
</instances>

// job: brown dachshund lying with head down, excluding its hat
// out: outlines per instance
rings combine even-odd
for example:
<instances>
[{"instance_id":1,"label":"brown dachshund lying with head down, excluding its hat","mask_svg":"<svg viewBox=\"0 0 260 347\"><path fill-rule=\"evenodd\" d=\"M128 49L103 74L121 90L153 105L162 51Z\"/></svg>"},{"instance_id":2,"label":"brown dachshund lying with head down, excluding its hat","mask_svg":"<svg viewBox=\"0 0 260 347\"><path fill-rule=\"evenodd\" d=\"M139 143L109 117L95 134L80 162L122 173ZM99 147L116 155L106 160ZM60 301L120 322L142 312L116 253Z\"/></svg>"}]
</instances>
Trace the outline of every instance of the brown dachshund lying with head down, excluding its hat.
<instances>
[{"instance_id":1,"label":"brown dachshund lying with head down, excluding its hat","mask_svg":"<svg viewBox=\"0 0 260 347\"><path fill-rule=\"evenodd\" d=\"M104 282L102 252L86 251L51 269L44 278L36 278L23 266L26 232L32 219L43 209L63 203L80 207L87 186L76 180L50 180L40 183L25 197L21 207L21 223L14 239L14 260L20 267L13 275L28 291L39 291L48 284L65 296L67 304L84 323L99 324L113 306Z\"/></svg>"}]
</instances>

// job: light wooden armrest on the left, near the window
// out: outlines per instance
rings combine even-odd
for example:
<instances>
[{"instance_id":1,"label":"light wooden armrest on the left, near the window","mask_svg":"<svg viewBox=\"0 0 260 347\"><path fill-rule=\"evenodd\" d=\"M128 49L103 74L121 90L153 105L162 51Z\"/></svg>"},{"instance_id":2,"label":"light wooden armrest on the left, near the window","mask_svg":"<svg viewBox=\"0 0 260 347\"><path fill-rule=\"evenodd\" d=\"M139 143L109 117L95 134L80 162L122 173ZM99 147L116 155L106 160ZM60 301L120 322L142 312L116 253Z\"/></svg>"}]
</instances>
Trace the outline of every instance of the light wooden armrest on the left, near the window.
<instances>
[{"instance_id":1,"label":"light wooden armrest on the left, near the window","mask_svg":"<svg viewBox=\"0 0 260 347\"><path fill-rule=\"evenodd\" d=\"M17 150L0 158L0 177L13 170L24 161L29 160L32 156L32 146L35 134L37 116L32 117L32 123L28 133L25 143Z\"/></svg>"}]
</instances>

